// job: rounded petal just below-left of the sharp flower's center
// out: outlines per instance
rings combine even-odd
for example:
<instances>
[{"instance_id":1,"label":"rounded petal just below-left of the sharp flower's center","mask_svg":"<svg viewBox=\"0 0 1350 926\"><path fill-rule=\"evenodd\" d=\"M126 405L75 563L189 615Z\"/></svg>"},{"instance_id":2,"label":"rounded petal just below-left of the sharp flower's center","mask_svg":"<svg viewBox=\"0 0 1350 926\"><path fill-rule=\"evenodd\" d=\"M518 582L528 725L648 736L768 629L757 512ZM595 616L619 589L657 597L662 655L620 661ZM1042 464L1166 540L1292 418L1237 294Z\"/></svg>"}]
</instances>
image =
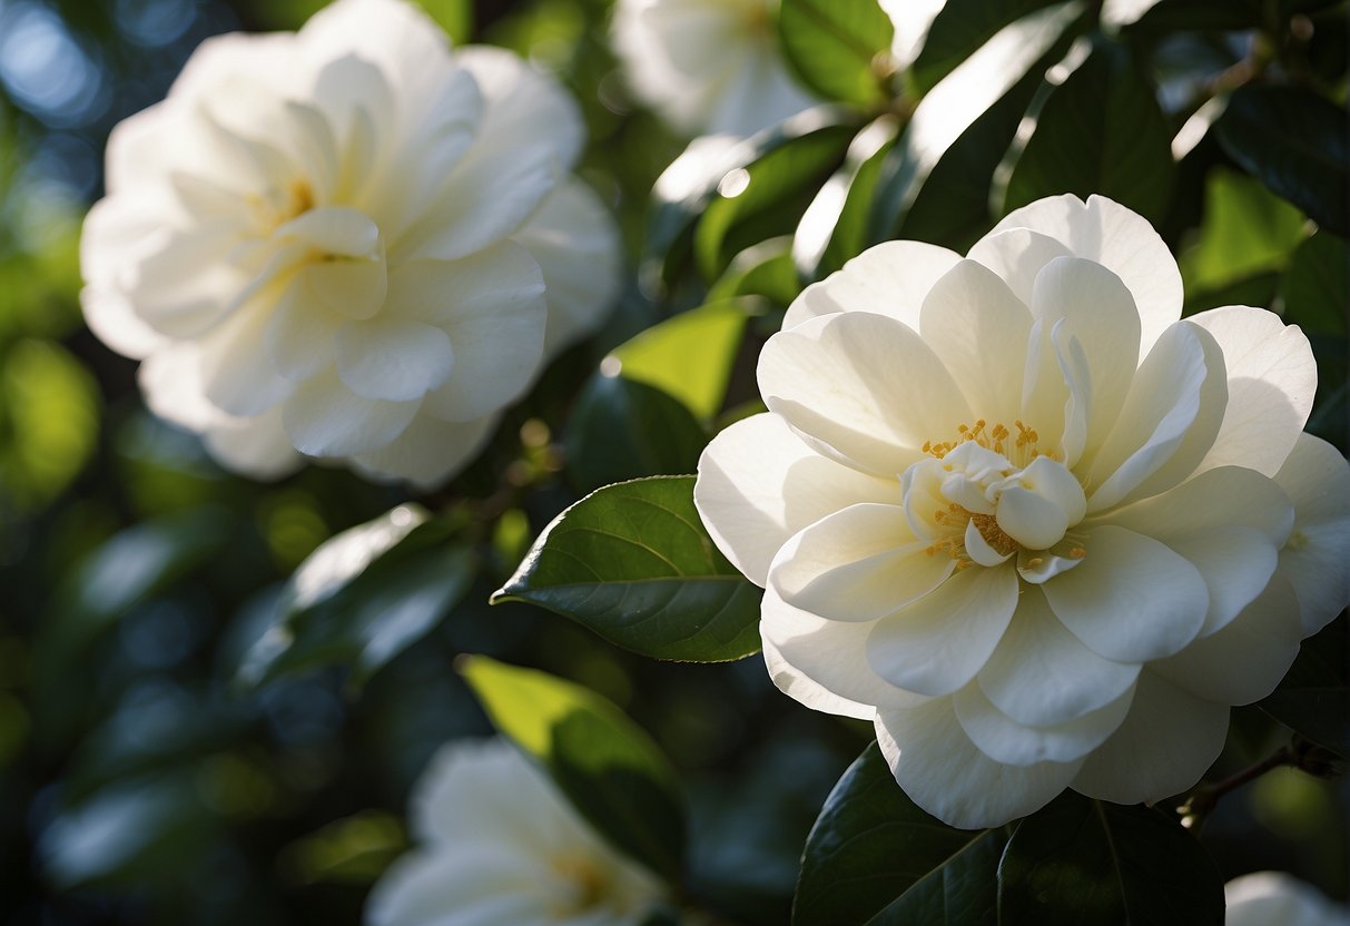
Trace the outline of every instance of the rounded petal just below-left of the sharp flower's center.
<instances>
[{"instance_id":1,"label":"rounded petal just below-left of the sharp flower's center","mask_svg":"<svg viewBox=\"0 0 1350 926\"><path fill-rule=\"evenodd\" d=\"M950 694L975 678L1017 610L1011 567L973 566L876 622L867 659L883 679L925 695Z\"/></svg>"}]
</instances>

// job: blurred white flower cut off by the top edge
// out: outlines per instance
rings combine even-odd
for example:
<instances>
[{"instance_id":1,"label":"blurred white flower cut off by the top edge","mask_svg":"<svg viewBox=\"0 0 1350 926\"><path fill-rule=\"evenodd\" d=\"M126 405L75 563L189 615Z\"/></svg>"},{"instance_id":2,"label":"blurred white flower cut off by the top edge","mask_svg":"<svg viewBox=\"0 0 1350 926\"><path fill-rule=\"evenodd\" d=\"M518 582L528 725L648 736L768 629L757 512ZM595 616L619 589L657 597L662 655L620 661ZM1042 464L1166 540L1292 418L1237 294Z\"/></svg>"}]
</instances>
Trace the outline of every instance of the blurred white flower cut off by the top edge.
<instances>
[{"instance_id":1,"label":"blurred white flower cut off by the top edge","mask_svg":"<svg viewBox=\"0 0 1350 926\"><path fill-rule=\"evenodd\" d=\"M753 135L817 103L788 74L775 0L620 0L614 50L643 103L676 128Z\"/></svg>"}]
</instances>

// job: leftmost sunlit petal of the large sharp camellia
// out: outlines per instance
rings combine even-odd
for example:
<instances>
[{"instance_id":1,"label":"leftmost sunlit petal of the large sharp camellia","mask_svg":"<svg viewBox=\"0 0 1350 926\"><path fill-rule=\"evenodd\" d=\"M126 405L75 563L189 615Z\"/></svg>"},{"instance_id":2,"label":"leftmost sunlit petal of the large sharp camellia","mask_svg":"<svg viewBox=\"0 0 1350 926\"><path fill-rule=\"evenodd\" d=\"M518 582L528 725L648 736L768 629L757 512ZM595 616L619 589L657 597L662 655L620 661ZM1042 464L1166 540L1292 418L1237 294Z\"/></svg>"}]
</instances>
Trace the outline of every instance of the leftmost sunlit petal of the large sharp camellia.
<instances>
[{"instance_id":1,"label":"leftmost sunlit petal of the large sharp camellia","mask_svg":"<svg viewBox=\"0 0 1350 926\"><path fill-rule=\"evenodd\" d=\"M759 586L768 582L775 553L806 525L857 502L899 501L898 482L821 456L776 414L718 433L694 483L694 503L717 548Z\"/></svg>"}]
</instances>

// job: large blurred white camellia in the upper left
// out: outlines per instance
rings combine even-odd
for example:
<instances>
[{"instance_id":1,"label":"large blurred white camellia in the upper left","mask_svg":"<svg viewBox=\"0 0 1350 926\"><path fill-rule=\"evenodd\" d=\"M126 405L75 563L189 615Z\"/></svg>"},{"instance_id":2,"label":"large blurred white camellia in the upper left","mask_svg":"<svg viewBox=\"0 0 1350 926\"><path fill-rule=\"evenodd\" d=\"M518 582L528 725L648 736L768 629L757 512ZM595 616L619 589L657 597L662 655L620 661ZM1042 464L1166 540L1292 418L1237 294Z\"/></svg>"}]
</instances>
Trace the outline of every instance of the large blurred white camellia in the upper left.
<instances>
[{"instance_id":1,"label":"large blurred white camellia in the upper left","mask_svg":"<svg viewBox=\"0 0 1350 926\"><path fill-rule=\"evenodd\" d=\"M235 470L439 483L614 296L582 142L555 81L402 0L208 39L108 142L85 319Z\"/></svg>"}]
</instances>

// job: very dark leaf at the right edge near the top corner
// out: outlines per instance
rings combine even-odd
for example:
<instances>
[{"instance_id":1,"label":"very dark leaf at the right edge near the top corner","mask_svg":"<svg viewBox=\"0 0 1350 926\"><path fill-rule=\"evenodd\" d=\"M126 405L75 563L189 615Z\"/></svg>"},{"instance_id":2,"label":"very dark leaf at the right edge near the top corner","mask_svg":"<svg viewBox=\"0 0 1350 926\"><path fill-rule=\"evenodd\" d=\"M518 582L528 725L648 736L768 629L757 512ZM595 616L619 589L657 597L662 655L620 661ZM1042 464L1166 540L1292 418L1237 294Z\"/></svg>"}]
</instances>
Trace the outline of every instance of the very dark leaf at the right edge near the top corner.
<instances>
[{"instance_id":1,"label":"very dark leaf at the right edge near the top corner","mask_svg":"<svg viewBox=\"0 0 1350 926\"><path fill-rule=\"evenodd\" d=\"M1310 90L1246 84L1215 123L1242 167L1323 228L1350 234L1350 115Z\"/></svg>"}]
</instances>

